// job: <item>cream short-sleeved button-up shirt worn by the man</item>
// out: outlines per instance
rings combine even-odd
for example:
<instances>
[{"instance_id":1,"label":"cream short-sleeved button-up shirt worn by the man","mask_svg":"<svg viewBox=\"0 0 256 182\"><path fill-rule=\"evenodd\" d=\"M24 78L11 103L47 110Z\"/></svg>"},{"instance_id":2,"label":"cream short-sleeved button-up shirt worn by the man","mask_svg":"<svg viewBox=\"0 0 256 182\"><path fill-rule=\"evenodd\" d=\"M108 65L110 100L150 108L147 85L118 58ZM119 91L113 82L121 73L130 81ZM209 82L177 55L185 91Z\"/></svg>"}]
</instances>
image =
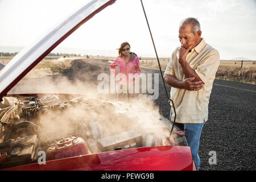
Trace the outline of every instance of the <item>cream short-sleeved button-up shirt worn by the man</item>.
<instances>
[{"instance_id":1,"label":"cream short-sleeved button-up shirt worn by the man","mask_svg":"<svg viewBox=\"0 0 256 182\"><path fill-rule=\"evenodd\" d=\"M164 74L172 75L177 80L185 80L185 75L179 64L179 48L171 55ZM174 101L177 123L203 123L208 120L208 104L212 92L213 80L220 65L220 55L213 47L205 43L204 39L188 53L186 61L195 70L197 75L205 83L204 87L197 91L171 88L171 99ZM172 119L174 121L174 110Z\"/></svg>"}]
</instances>

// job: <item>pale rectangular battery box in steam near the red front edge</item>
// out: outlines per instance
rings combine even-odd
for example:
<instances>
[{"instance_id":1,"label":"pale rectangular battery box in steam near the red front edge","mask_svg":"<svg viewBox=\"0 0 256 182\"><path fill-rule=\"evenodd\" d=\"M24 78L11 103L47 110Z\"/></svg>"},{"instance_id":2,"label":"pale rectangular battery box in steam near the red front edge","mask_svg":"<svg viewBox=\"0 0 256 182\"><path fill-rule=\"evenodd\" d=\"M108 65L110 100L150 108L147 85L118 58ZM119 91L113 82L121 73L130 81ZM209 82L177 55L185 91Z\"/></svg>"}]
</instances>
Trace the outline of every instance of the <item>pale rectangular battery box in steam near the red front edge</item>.
<instances>
[{"instance_id":1,"label":"pale rectangular battery box in steam near the red front edge","mask_svg":"<svg viewBox=\"0 0 256 182\"><path fill-rule=\"evenodd\" d=\"M98 145L103 152L142 147L142 135L132 129L110 137L98 139Z\"/></svg>"}]
</instances>

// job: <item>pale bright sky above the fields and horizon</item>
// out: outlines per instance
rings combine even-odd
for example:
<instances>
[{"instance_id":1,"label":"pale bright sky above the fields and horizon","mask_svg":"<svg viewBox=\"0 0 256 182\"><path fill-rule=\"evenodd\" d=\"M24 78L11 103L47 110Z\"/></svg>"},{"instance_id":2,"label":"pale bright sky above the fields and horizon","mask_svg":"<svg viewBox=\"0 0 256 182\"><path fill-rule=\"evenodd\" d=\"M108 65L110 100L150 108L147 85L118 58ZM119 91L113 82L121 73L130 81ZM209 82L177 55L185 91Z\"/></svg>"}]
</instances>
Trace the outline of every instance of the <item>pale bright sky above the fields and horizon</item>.
<instances>
[{"instance_id":1,"label":"pale bright sky above the fields and horizon","mask_svg":"<svg viewBox=\"0 0 256 182\"><path fill-rule=\"evenodd\" d=\"M0 0L0 46L29 46L87 2ZM256 60L255 0L143 0L143 5L159 57L170 57L180 46L179 23L194 17L205 42L218 50L220 59ZM115 51L117 56L116 49L125 41L138 56L155 57L140 0L117 0L58 47Z\"/></svg>"}]
</instances>

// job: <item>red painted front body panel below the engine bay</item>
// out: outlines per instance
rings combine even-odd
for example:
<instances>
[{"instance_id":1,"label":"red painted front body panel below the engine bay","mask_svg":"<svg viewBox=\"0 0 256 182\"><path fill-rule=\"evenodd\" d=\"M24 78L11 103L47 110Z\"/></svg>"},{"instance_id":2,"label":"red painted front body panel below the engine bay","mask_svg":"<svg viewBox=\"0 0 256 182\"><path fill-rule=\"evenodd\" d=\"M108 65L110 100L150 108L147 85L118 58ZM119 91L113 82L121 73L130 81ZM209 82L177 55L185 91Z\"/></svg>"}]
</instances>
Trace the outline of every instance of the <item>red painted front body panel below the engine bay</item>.
<instances>
[{"instance_id":1,"label":"red painted front body panel below the engine bay","mask_svg":"<svg viewBox=\"0 0 256 182\"><path fill-rule=\"evenodd\" d=\"M190 147L154 146L49 160L46 164L34 163L3 170L191 171L196 167Z\"/></svg>"}]
</instances>

